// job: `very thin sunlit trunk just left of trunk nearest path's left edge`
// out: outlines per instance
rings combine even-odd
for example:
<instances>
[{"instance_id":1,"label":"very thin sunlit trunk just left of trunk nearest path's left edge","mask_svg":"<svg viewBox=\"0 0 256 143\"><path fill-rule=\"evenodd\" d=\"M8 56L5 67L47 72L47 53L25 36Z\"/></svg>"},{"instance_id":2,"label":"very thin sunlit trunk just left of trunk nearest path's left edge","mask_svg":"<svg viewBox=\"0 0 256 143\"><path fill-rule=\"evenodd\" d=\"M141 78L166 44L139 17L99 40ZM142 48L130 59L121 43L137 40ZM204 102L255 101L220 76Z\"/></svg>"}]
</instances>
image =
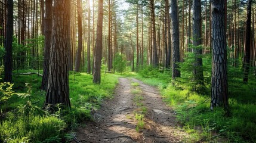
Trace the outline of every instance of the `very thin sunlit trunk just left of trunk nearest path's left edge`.
<instances>
[{"instance_id":1,"label":"very thin sunlit trunk just left of trunk nearest path's left edge","mask_svg":"<svg viewBox=\"0 0 256 143\"><path fill-rule=\"evenodd\" d=\"M91 10L90 1L88 1L88 36L87 36L87 73L91 73ZM92 41L93 42L93 41Z\"/></svg>"}]
</instances>

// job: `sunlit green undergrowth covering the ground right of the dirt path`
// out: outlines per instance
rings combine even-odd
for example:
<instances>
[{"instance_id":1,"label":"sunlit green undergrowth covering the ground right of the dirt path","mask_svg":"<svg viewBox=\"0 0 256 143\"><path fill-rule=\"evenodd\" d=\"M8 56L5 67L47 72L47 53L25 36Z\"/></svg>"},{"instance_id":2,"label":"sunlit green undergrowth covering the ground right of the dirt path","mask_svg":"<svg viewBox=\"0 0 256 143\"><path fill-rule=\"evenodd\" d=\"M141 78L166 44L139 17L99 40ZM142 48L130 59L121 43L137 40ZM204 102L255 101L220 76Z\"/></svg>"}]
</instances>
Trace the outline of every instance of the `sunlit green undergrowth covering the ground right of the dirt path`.
<instances>
[{"instance_id":1,"label":"sunlit green undergrowth covering the ground right of the dirt path","mask_svg":"<svg viewBox=\"0 0 256 143\"><path fill-rule=\"evenodd\" d=\"M238 70L229 67L231 117L224 116L223 108L215 108L214 111L209 109L211 95L207 82L204 94L198 94L191 91L189 80L187 86L179 86L180 82L175 82L174 87L169 80L171 74L165 71L148 68L142 70L137 78L150 85L159 86L167 104L176 111L183 129L193 136L193 142L255 142L256 80L251 76L248 85L245 85L242 82L242 72Z\"/></svg>"}]
</instances>

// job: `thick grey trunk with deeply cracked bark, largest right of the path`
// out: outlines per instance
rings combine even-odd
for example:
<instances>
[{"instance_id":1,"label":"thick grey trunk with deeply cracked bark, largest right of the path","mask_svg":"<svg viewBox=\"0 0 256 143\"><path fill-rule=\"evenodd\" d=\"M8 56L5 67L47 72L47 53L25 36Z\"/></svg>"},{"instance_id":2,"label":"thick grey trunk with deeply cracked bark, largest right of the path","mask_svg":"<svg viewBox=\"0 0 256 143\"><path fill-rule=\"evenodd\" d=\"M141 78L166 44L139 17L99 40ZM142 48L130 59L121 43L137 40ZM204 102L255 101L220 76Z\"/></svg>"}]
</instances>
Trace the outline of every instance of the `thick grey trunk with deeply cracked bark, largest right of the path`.
<instances>
[{"instance_id":1,"label":"thick grey trunk with deeply cracked bark, largest right of the path","mask_svg":"<svg viewBox=\"0 0 256 143\"><path fill-rule=\"evenodd\" d=\"M228 111L227 91L227 48L224 26L224 1L212 0L212 77L211 110L224 106Z\"/></svg>"}]
</instances>

